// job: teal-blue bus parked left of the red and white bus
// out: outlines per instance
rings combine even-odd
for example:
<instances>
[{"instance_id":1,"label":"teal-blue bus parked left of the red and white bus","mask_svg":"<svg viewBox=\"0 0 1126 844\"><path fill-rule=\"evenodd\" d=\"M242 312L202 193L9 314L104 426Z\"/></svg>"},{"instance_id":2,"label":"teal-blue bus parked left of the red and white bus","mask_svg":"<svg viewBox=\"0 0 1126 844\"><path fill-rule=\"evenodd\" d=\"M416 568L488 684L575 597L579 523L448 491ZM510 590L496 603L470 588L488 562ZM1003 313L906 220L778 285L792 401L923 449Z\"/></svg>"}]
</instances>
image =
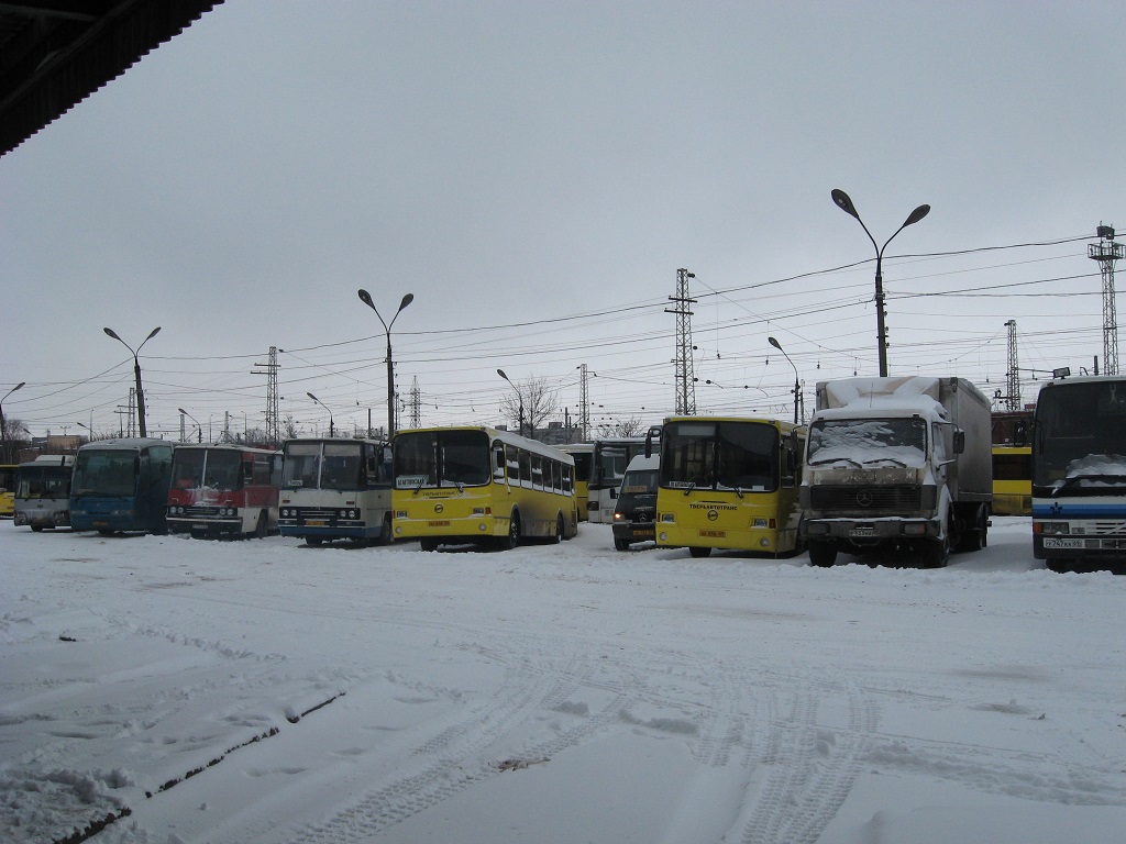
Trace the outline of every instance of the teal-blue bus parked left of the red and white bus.
<instances>
[{"instance_id":1,"label":"teal-blue bus parked left of the red and white bus","mask_svg":"<svg viewBox=\"0 0 1126 844\"><path fill-rule=\"evenodd\" d=\"M152 438L89 442L78 450L71 528L163 533L172 443Z\"/></svg>"}]
</instances>

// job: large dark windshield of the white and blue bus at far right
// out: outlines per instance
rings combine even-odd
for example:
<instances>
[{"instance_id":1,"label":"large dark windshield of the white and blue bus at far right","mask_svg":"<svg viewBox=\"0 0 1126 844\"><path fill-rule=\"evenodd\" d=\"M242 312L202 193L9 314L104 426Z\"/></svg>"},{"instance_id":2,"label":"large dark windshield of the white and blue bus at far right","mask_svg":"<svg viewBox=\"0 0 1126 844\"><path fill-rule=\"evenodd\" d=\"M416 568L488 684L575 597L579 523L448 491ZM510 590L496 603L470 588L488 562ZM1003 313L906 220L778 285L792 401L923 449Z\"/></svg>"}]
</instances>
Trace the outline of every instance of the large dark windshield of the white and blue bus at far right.
<instances>
[{"instance_id":1,"label":"large dark windshield of the white and blue bus at far right","mask_svg":"<svg viewBox=\"0 0 1126 844\"><path fill-rule=\"evenodd\" d=\"M1126 384L1064 383L1036 402L1033 486L1047 492L1126 485Z\"/></svg>"}]
</instances>

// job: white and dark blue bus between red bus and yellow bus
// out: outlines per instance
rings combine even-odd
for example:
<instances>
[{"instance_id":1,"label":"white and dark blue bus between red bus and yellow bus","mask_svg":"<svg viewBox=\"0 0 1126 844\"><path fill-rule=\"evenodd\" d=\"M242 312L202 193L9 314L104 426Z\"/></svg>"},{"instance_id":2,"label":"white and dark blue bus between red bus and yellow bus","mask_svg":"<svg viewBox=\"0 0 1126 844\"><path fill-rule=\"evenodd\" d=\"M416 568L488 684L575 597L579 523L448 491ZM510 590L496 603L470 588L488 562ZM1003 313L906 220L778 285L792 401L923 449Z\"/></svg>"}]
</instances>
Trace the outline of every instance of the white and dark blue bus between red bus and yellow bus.
<instances>
[{"instance_id":1,"label":"white and dark blue bus between red bus and yellow bus","mask_svg":"<svg viewBox=\"0 0 1126 844\"><path fill-rule=\"evenodd\" d=\"M391 541L391 464L377 440L293 439L284 446L278 532L309 545Z\"/></svg>"}]
</instances>

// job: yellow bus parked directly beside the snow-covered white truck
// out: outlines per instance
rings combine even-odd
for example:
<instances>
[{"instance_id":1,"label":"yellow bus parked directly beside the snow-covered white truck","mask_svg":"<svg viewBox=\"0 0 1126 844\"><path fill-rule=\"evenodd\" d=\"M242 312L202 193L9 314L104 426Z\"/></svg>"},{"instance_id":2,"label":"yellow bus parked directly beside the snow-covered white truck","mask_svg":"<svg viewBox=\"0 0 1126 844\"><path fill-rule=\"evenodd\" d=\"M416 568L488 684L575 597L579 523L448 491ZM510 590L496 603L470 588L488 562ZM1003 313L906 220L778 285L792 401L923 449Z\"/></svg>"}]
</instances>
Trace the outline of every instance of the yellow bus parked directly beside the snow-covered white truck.
<instances>
[{"instance_id":1,"label":"yellow bus parked directly beside the snow-covered white truck","mask_svg":"<svg viewBox=\"0 0 1126 844\"><path fill-rule=\"evenodd\" d=\"M656 545L774 557L802 550L805 428L733 416L674 416L661 429Z\"/></svg>"}]
</instances>

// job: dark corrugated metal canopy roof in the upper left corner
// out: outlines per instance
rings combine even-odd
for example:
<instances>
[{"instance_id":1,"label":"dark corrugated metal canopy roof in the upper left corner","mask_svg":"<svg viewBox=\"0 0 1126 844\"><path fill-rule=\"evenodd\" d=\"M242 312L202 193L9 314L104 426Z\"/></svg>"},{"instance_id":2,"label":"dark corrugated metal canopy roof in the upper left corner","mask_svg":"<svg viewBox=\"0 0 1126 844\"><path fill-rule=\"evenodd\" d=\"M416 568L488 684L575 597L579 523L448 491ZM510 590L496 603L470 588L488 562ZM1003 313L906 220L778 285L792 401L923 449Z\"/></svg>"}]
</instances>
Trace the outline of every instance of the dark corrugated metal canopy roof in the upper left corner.
<instances>
[{"instance_id":1,"label":"dark corrugated metal canopy roof in the upper left corner","mask_svg":"<svg viewBox=\"0 0 1126 844\"><path fill-rule=\"evenodd\" d=\"M0 2L0 155L222 2Z\"/></svg>"}]
</instances>

